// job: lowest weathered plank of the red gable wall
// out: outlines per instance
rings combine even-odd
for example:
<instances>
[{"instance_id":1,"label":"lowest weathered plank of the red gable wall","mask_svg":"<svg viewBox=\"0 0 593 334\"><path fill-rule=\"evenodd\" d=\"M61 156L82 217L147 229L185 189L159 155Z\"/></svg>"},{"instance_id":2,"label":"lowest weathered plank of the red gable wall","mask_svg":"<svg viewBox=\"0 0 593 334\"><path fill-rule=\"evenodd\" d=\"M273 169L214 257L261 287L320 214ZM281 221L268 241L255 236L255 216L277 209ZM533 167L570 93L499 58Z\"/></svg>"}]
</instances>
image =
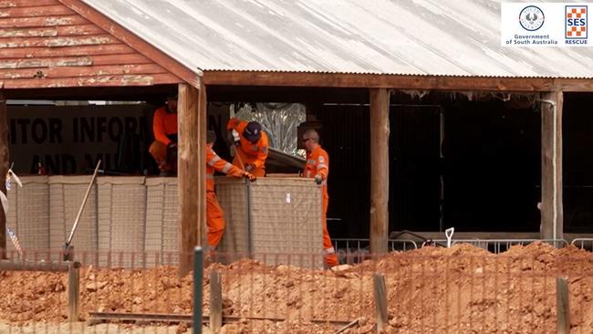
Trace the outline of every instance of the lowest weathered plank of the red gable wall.
<instances>
[{"instance_id":1,"label":"lowest weathered plank of the red gable wall","mask_svg":"<svg viewBox=\"0 0 593 334\"><path fill-rule=\"evenodd\" d=\"M67 87L152 86L178 84L182 81L170 73L152 75L113 75L84 78L5 79L5 89L48 89Z\"/></svg>"}]
</instances>

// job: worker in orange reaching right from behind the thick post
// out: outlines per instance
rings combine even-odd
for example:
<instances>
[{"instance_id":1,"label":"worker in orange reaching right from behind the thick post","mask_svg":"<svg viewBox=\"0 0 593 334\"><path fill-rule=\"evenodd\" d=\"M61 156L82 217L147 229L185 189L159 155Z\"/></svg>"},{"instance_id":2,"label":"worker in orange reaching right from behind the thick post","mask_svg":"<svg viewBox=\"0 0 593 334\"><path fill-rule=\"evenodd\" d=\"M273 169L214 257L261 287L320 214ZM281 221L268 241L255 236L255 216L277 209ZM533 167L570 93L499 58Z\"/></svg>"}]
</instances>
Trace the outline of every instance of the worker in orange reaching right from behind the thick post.
<instances>
[{"instance_id":1,"label":"worker in orange reaching right from behind the thick post","mask_svg":"<svg viewBox=\"0 0 593 334\"><path fill-rule=\"evenodd\" d=\"M214 171L223 172L235 177L246 177L255 181L255 175L244 172L224 161L213 151L216 135L213 131L206 132L206 225L208 226L208 245L214 250L224 235L223 209L218 204L218 197L214 193Z\"/></svg>"}]
</instances>

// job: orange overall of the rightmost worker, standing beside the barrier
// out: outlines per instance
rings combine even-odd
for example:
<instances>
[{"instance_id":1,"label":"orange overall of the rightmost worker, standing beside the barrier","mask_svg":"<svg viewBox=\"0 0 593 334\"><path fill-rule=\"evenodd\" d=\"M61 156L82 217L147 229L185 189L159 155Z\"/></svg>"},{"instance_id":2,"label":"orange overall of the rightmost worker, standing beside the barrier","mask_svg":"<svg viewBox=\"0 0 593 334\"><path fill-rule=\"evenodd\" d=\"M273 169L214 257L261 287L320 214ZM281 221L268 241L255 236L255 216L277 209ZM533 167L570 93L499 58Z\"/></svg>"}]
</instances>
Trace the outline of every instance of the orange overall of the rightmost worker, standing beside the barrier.
<instances>
[{"instance_id":1,"label":"orange overall of the rightmost worker, standing beside the barrier","mask_svg":"<svg viewBox=\"0 0 593 334\"><path fill-rule=\"evenodd\" d=\"M321 216L321 225L323 226L323 250L325 253L325 260L327 266L338 266L338 256L336 250L331 244L331 239L328 233L328 174L329 174L329 156L328 152L317 145L315 150L307 153L307 163L303 176L307 178L315 178L315 175L320 175L323 182L321 183L321 191L323 193L323 214Z\"/></svg>"}]
</instances>

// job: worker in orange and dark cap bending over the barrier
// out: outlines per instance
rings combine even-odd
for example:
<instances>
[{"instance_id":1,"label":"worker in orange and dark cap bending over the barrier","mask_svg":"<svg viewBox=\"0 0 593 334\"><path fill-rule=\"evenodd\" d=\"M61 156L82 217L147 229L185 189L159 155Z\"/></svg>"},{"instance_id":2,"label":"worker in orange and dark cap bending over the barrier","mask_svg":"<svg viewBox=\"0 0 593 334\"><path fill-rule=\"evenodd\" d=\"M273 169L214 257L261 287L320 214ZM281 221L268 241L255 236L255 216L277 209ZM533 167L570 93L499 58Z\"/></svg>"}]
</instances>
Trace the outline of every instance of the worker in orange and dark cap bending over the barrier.
<instances>
[{"instance_id":1,"label":"worker in orange and dark cap bending over the barrier","mask_svg":"<svg viewBox=\"0 0 593 334\"><path fill-rule=\"evenodd\" d=\"M262 126L256 121L231 118L226 130L233 135L235 144L233 164L257 177L265 176L268 139Z\"/></svg>"}]
</instances>

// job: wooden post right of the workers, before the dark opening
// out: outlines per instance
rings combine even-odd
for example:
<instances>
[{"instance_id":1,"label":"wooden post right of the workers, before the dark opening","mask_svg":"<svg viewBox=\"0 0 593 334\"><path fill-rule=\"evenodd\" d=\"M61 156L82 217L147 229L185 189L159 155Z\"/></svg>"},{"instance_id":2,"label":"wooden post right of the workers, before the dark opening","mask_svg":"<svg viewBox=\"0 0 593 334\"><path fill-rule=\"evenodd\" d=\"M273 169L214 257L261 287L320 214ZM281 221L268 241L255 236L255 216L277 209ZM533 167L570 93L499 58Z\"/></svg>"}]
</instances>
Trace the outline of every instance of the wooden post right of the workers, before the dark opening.
<instances>
[{"instance_id":1,"label":"wooden post right of the workers, before the dark opening","mask_svg":"<svg viewBox=\"0 0 593 334\"><path fill-rule=\"evenodd\" d=\"M387 253L390 196L390 92L370 89L370 253Z\"/></svg>"}]
</instances>

